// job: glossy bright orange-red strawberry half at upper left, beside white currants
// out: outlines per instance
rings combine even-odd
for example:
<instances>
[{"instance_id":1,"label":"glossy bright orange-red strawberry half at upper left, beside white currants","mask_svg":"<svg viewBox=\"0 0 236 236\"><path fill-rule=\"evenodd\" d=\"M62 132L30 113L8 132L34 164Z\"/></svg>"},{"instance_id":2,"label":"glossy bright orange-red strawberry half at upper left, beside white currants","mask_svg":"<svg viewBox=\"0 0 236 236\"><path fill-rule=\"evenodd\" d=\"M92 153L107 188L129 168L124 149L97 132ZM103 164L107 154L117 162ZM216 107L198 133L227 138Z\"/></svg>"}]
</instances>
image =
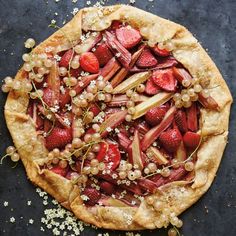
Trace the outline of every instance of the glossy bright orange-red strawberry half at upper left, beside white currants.
<instances>
[{"instance_id":1,"label":"glossy bright orange-red strawberry half at upper left, beside white currants","mask_svg":"<svg viewBox=\"0 0 236 236\"><path fill-rule=\"evenodd\" d=\"M84 71L92 74L99 72L99 62L92 52L85 52L79 58L80 66Z\"/></svg>"}]
</instances>

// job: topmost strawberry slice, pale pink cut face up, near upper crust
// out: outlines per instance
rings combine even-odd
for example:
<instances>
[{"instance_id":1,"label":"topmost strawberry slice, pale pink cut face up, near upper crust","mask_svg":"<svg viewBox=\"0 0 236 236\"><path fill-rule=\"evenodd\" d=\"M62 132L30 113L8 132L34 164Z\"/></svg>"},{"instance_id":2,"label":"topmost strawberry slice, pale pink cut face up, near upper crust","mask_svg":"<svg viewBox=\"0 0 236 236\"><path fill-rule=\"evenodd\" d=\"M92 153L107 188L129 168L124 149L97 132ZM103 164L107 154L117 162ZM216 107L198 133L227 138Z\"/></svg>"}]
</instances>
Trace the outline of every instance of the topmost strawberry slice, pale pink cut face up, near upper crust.
<instances>
[{"instance_id":1,"label":"topmost strawberry slice, pale pink cut face up, near upper crust","mask_svg":"<svg viewBox=\"0 0 236 236\"><path fill-rule=\"evenodd\" d=\"M142 39L139 31L131 28L130 26L116 29L116 37L127 49L135 47Z\"/></svg>"}]
</instances>

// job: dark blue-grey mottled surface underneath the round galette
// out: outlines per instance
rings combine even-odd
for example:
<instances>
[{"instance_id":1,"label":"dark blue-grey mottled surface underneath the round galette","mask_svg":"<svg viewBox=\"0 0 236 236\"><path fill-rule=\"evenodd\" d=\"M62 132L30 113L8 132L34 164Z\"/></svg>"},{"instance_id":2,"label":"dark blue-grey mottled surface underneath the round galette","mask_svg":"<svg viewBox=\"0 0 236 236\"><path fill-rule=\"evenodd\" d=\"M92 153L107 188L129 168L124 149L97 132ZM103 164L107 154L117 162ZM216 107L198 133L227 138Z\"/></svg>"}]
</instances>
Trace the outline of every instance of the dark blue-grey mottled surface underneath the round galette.
<instances>
[{"instance_id":1,"label":"dark blue-grey mottled surface underneath the round galette","mask_svg":"<svg viewBox=\"0 0 236 236\"><path fill-rule=\"evenodd\" d=\"M25 49L23 42L33 37L40 42L53 30L47 25L56 19L61 25L64 19L70 19L74 7L85 6L86 1L76 4L71 0L0 0L0 78L14 75L22 63L21 55ZM94 3L94 1L91 1ZM112 1L128 3L128 1ZM136 0L134 4L182 25L185 25L208 48L232 93L236 90L235 55L236 55L236 2L235 0ZM54 13L57 12L58 16ZM68 17L66 17L68 15ZM0 94L0 153L11 144L7 131L3 106L6 96ZM235 97L235 95L233 94ZM232 108L229 143L224 153L217 177L210 190L194 206L182 214L184 226L181 233L186 236L234 236L236 235L236 110ZM51 231L40 231L40 218L43 215L42 199L35 192L35 187L28 182L24 168L19 164L12 169L12 162L6 160L0 166L0 235L52 235ZM27 206L27 200L32 206ZM4 207L3 202L9 206ZM208 213L206 211L208 209ZM9 223L14 216L16 223ZM30 218L34 224L29 225ZM101 230L88 227L83 235L97 235ZM124 233L110 233L124 235ZM142 235L167 235L164 231L145 231Z\"/></svg>"}]
</instances>

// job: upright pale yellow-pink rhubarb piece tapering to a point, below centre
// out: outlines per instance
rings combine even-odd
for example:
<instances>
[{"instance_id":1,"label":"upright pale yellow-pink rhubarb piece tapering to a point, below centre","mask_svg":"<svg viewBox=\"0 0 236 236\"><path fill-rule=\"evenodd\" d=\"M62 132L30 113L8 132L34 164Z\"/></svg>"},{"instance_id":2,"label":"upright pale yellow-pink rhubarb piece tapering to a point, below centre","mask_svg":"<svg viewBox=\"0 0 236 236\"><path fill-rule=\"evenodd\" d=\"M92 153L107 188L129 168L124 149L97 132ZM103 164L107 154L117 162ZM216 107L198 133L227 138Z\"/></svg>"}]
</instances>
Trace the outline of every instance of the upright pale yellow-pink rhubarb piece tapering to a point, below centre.
<instances>
[{"instance_id":1,"label":"upright pale yellow-pink rhubarb piece tapering to a point, below centre","mask_svg":"<svg viewBox=\"0 0 236 236\"><path fill-rule=\"evenodd\" d=\"M139 132L135 130L132 143L128 147L129 162L133 165L137 165L139 170L143 169L144 160L140 147Z\"/></svg>"}]
</instances>

